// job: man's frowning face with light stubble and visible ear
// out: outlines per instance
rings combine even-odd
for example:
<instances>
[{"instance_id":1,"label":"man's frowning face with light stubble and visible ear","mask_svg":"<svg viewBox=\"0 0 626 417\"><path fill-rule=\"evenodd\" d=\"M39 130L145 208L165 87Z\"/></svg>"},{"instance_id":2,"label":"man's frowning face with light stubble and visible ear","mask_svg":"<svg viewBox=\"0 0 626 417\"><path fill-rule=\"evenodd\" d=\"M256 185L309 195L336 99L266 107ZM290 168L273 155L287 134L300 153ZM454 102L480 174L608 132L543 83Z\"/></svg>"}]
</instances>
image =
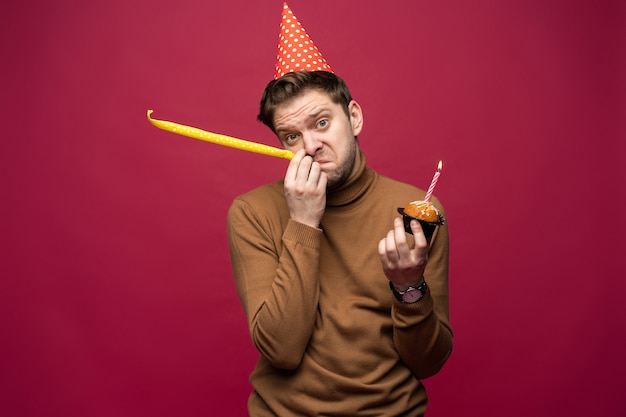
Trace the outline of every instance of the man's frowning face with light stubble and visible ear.
<instances>
[{"instance_id":1,"label":"man's frowning face with light stubble and visible ear","mask_svg":"<svg viewBox=\"0 0 626 417\"><path fill-rule=\"evenodd\" d=\"M328 176L328 188L337 188L359 168L356 136L363 114L356 101L348 105L350 116L321 90L307 90L278 106L274 127L285 149L304 149Z\"/></svg>"}]
</instances>

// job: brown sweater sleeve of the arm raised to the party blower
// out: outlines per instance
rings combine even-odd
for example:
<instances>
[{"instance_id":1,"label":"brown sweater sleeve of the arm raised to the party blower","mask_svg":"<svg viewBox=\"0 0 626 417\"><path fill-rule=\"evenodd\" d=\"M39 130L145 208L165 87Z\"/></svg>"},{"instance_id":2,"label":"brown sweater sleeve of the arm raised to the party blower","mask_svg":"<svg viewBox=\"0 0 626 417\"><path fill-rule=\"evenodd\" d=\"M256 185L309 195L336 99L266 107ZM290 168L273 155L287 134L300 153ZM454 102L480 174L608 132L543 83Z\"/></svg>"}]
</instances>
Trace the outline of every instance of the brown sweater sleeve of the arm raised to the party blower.
<instances>
[{"instance_id":1,"label":"brown sweater sleeve of the arm raised to the party blower","mask_svg":"<svg viewBox=\"0 0 626 417\"><path fill-rule=\"evenodd\" d=\"M281 222L236 199L228 212L228 239L254 345L273 366L295 369L315 324L322 231L285 222L281 230Z\"/></svg>"}]
</instances>

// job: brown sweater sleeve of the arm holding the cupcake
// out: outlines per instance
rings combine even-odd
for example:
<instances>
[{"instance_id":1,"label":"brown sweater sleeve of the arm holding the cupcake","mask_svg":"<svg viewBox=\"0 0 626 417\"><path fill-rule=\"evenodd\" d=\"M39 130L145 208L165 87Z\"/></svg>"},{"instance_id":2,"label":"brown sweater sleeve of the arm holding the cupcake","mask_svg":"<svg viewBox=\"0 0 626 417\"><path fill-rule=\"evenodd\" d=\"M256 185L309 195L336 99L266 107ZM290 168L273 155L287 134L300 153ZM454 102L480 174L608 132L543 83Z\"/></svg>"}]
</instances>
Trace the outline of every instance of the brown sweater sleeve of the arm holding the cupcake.
<instances>
[{"instance_id":1,"label":"brown sweater sleeve of the arm holding the cupcake","mask_svg":"<svg viewBox=\"0 0 626 417\"><path fill-rule=\"evenodd\" d=\"M452 353L448 260L448 227L444 225L437 227L428 253L424 279L429 292L413 304L401 303L393 297L394 343L418 379L436 374Z\"/></svg>"}]
</instances>

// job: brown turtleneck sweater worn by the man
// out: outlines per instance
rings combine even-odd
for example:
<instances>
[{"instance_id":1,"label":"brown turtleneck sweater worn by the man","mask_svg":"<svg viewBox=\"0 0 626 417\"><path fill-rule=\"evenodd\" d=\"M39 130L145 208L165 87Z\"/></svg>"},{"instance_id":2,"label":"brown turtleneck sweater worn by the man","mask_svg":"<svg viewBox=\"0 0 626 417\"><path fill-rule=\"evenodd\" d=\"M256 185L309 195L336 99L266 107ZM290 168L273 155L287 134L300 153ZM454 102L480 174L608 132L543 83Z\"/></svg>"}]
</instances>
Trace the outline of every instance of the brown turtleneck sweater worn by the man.
<instances>
[{"instance_id":1,"label":"brown turtleneck sweater worn by the man","mask_svg":"<svg viewBox=\"0 0 626 417\"><path fill-rule=\"evenodd\" d=\"M251 416L424 414L420 379L452 350L447 226L433 235L430 292L417 303L393 297L377 250L396 209L424 195L367 168L361 154L358 173L327 195L319 229L289 219L282 181L234 200L231 261L261 353Z\"/></svg>"}]
</instances>

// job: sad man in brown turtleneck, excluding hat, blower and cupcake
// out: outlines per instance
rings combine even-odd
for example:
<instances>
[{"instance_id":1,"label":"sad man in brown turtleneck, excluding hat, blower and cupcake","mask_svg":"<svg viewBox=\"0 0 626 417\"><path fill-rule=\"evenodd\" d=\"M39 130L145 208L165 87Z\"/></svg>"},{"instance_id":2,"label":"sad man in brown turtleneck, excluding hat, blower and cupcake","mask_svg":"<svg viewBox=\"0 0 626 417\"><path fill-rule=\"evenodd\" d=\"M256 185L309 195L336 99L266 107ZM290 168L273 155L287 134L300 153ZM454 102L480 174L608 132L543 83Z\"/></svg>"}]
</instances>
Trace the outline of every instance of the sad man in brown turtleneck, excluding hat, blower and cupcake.
<instances>
[{"instance_id":1,"label":"sad man in brown turtleneck, excluding hat, blower and cupcake","mask_svg":"<svg viewBox=\"0 0 626 417\"><path fill-rule=\"evenodd\" d=\"M367 167L363 111L334 73L278 76L259 120L295 156L284 180L229 210L237 291L261 353L250 415L423 415L420 380L452 350L447 226L430 245L417 221L405 233L396 209L425 193ZM403 300L409 288L419 296Z\"/></svg>"}]
</instances>

